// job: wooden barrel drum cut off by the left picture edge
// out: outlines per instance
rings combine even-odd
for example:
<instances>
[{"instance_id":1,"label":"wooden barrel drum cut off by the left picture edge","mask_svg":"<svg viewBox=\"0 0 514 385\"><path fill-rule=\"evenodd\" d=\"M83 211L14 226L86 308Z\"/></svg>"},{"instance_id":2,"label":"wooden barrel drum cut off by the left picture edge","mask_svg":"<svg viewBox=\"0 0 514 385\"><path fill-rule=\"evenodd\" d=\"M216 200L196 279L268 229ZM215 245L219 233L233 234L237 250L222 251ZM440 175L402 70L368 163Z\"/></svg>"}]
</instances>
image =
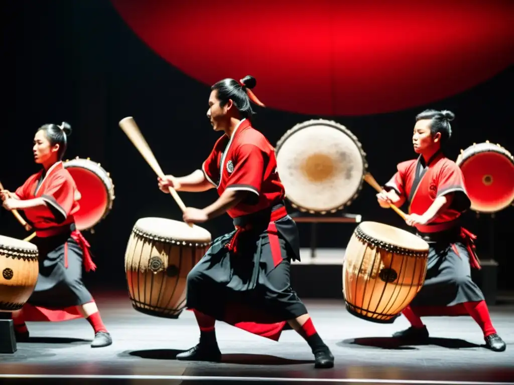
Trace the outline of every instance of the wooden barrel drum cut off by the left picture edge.
<instances>
[{"instance_id":1,"label":"wooden barrel drum cut off by the left picture edge","mask_svg":"<svg viewBox=\"0 0 514 385\"><path fill-rule=\"evenodd\" d=\"M38 282L38 248L0 235L0 312L22 309Z\"/></svg>"}]
</instances>

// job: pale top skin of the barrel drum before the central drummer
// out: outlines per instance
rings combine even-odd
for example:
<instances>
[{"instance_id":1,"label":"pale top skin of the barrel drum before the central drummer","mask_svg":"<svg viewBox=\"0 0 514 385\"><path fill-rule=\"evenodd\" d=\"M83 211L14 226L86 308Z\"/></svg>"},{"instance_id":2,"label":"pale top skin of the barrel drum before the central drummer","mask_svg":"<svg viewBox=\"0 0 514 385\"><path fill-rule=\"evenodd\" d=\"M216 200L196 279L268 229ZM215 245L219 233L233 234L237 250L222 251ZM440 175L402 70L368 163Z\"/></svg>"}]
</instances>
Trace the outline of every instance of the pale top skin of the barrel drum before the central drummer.
<instances>
[{"instance_id":1,"label":"pale top skin of the barrel drum before the central drummer","mask_svg":"<svg viewBox=\"0 0 514 385\"><path fill-rule=\"evenodd\" d=\"M138 219L134 228L141 233L164 239L208 243L211 241L211 233L205 228L189 225L185 222L175 221L167 218L141 218Z\"/></svg>"}]
</instances>

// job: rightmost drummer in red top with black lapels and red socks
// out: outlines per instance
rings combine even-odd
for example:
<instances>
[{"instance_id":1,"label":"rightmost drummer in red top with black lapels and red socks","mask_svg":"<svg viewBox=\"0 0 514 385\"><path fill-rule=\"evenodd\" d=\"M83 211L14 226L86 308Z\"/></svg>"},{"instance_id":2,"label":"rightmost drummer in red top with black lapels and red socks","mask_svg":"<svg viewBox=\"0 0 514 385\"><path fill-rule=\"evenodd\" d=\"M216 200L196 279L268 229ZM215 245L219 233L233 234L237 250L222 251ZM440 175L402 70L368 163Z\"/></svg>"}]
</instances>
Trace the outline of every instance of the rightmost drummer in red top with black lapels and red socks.
<instances>
[{"instance_id":1,"label":"rightmost drummer in red top with black lapels and red socks","mask_svg":"<svg viewBox=\"0 0 514 385\"><path fill-rule=\"evenodd\" d=\"M494 329L480 288L471 280L471 267L480 268L474 252L476 238L461 227L469 200L464 177L443 149L451 137L450 111L425 110L417 115L412 137L417 159L398 164L398 171L377 195L382 207L389 202L409 204L406 222L430 245L426 280L403 315L411 323L394 337L426 340L420 316L470 315L480 325L486 346L504 351L505 342Z\"/></svg>"}]
</instances>

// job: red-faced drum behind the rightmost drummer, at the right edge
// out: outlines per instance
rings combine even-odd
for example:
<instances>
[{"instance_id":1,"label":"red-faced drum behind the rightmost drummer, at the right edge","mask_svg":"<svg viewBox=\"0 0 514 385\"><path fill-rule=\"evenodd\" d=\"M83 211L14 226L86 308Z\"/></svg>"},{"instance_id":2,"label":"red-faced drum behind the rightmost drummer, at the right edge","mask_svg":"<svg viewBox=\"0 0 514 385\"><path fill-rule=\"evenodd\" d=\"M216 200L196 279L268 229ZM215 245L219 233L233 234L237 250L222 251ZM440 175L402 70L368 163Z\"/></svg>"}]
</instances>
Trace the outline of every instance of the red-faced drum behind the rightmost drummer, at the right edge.
<instances>
[{"instance_id":1,"label":"red-faced drum behind the rightmost drummer, at the right edge","mask_svg":"<svg viewBox=\"0 0 514 385\"><path fill-rule=\"evenodd\" d=\"M461 167L471 209L495 213L514 201L514 157L499 144L473 144L461 150Z\"/></svg>"}]
</instances>

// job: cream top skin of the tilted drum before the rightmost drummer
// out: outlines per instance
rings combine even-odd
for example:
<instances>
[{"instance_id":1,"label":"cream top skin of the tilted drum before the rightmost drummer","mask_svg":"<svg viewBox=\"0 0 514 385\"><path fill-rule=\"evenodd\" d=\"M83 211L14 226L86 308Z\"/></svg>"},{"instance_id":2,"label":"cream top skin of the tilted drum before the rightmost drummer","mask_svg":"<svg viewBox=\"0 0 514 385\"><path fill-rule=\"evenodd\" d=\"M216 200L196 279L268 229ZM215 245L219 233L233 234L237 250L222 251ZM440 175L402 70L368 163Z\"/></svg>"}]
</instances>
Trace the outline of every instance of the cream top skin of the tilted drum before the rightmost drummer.
<instances>
[{"instance_id":1,"label":"cream top skin of the tilted drum before the rightmost drummer","mask_svg":"<svg viewBox=\"0 0 514 385\"><path fill-rule=\"evenodd\" d=\"M362 222L359 228L371 238L378 239L393 246L406 248L415 252L428 251L429 245L418 236L398 227L379 222Z\"/></svg>"}]
</instances>

